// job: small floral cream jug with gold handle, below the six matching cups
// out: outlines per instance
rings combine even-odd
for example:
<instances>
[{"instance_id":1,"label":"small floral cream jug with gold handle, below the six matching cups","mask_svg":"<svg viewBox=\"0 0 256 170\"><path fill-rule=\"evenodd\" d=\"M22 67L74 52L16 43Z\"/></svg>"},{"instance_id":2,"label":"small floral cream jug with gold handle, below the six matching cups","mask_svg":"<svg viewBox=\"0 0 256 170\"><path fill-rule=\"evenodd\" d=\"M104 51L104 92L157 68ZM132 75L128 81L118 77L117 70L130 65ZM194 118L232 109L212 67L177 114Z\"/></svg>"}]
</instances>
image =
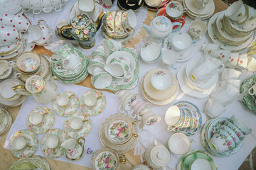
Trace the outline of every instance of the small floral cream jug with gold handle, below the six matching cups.
<instances>
[{"instance_id":1,"label":"small floral cream jug with gold handle, below the six matching cups","mask_svg":"<svg viewBox=\"0 0 256 170\"><path fill-rule=\"evenodd\" d=\"M83 142L80 142L80 140L83 140ZM65 157L71 160L78 160L82 157L84 145L85 138L80 137L78 140L73 138L65 140L60 146L65 149Z\"/></svg>"}]
</instances>

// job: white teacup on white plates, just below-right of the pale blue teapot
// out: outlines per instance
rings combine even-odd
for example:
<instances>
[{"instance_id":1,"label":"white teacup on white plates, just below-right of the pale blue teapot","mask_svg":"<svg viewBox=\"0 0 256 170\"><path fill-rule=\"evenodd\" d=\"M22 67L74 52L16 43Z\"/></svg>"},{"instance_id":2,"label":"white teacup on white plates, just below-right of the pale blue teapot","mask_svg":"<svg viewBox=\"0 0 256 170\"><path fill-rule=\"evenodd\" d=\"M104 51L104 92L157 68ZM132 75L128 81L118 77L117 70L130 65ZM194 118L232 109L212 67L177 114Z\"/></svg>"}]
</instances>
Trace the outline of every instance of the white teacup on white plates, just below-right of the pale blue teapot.
<instances>
[{"instance_id":1,"label":"white teacup on white plates, just below-right of the pale blue teapot","mask_svg":"<svg viewBox=\"0 0 256 170\"><path fill-rule=\"evenodd\" d=\"M176 33L171 39L171 43L176 51L186 50L195 42L188 33Z\"/></svg>"}]
</instances>

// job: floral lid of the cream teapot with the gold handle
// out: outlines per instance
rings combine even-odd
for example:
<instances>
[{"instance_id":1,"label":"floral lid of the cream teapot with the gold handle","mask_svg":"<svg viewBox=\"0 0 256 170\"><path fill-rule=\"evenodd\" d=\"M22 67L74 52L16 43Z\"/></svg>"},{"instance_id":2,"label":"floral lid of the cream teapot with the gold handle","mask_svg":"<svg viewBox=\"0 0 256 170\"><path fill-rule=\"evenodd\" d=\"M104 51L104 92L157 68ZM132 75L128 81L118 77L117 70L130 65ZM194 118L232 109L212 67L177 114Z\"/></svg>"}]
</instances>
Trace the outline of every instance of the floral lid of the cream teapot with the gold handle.
<instances>
[{"instance_id":1,"label":"floral lid of the cream teapot with the gold handle","mask_svg":"<svg viewBox=\"0 0 256 170\"><path fill-rule=\"evenodd\" d=\"M26 80L26 89L31 93L41 91L44 86L46 86L46 81L41 76L31 76Z\"/></svg>"}]
</instances>

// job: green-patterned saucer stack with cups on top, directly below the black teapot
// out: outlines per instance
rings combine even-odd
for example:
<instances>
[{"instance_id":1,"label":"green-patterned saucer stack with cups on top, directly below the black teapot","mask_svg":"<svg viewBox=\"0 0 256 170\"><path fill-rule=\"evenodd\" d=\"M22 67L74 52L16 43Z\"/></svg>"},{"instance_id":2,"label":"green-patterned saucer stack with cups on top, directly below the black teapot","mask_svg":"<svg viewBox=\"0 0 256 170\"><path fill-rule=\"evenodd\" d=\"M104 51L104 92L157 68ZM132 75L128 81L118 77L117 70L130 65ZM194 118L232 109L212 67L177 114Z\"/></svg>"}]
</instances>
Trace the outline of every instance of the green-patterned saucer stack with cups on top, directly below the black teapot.
<instances>
[{"instance_id":1,"label":"green-patterned saucer stack with cups on top, directly below the black teapot","mask_svg":"<svg viewBox=\"0 0 256 170\"><path fill-rule=\"evenodd\" d=\"M66 84L77 84L87 75L89 60L77 48L65 45L50 57L53 74Z\"/></svg>"}]
</instances>

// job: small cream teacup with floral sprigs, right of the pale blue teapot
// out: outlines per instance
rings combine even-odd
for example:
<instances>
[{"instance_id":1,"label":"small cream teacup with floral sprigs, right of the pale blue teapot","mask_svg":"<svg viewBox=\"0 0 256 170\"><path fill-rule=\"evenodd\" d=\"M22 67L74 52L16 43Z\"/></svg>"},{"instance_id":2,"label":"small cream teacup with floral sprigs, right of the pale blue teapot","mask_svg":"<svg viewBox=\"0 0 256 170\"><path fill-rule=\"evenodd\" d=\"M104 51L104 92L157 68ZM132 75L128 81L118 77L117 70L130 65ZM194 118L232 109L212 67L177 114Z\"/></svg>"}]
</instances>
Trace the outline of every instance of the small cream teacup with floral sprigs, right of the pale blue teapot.
<instances>
[{"instance_id":1,"label":"small cream teacup with floral sprigs, right of the pale blue teapot","mask_svg":"<svg viewBox=\"0 0 256 170\"><path fill-rule=\"evenodd\" d=\"M206 33L206 30L207 30L206 23L204 23L201 20L194 20L189 26L188 33L194 39L201 40L202 35Z\"/></svg>"}]
</instances>

